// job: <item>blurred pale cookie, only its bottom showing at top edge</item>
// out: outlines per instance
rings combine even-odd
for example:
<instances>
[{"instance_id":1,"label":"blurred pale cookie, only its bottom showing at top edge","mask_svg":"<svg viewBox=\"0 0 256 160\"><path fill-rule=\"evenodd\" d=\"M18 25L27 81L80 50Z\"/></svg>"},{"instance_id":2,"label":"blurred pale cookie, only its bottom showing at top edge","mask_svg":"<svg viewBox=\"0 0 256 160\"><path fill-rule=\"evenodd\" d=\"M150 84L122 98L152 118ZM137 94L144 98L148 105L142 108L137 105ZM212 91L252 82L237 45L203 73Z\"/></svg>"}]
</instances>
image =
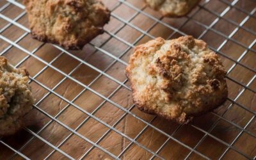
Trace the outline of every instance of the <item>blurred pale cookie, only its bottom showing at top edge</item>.
<instances>
[{"instance_id":1,"label":"blurred pale cookie, only its bottom showing at top edge","mask_svg":"<svg viewBox=\"0 0 256 160\"><path fill-rule=\"evenodd\" d=\"M166 17L182 17L188 14L200 0L145 0L148 6Z\"/></svg>"}]
</instances>

